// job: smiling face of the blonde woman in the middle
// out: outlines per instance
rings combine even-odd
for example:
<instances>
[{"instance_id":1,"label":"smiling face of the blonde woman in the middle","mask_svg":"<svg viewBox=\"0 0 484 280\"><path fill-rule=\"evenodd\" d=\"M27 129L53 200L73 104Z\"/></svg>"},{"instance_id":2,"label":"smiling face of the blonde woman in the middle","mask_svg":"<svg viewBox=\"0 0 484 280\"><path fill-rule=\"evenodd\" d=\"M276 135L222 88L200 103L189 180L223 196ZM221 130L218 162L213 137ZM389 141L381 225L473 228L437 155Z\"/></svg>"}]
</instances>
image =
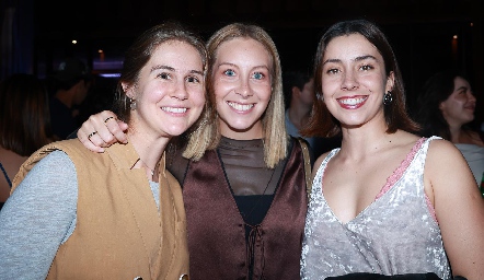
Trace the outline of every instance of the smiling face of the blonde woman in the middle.
<instances>
[{"instance_id":1,"label":"smiling face of the blonde woman in the middle","mask_svg":"<svg viewBox=\"0 0 484 280\"><path fill-rule=\"evenodd\" d=\"M263 137L261 118L272 94L270 65L268 51L254 39L234 38L219 46L211 79L222 136Z\"/></svg>"}]
</instances>

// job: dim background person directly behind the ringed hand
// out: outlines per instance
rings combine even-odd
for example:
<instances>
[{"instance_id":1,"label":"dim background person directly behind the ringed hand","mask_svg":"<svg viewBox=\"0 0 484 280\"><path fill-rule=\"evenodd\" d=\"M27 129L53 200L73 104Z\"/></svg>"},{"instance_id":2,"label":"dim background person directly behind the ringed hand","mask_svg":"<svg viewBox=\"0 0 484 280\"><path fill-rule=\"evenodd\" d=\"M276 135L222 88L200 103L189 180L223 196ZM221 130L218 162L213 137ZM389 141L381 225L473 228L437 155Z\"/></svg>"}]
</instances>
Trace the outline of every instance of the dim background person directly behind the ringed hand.
<instances>
[{"instance_id":1,"label":"dim background person directly behind the ringed hand","mask_svg":"<svg viewBox=\"0 0 484 280\"><path fill-rule=\"evenodd\" d=\"M71 57L60 62L48 81L53 132L58 140L67 139L79 127L77 108L88 96L91 73L82 60Z\"/></svg>"}]
</instances>

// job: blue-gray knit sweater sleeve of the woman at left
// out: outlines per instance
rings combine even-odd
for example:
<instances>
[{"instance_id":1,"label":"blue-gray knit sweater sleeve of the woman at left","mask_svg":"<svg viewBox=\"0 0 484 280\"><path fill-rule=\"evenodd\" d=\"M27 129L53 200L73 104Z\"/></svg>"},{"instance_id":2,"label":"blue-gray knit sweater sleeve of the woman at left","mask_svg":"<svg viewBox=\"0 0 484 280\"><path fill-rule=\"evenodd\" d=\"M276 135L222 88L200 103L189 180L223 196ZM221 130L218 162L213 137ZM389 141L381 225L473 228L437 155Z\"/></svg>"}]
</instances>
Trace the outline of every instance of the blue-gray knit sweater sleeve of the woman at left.
<instances>
[{"instance_id":1,"label":"blue-gray knit sweater sleeve of the woman at left","mask_svg":"<svg viewBox=\"0 0 484 280\"><path fill-rule=\"evenodd\" d=\"M0 279L45 279L76 226L78 180L69 156L41 160L0 212Z\"/></svg>"}]
</instances>

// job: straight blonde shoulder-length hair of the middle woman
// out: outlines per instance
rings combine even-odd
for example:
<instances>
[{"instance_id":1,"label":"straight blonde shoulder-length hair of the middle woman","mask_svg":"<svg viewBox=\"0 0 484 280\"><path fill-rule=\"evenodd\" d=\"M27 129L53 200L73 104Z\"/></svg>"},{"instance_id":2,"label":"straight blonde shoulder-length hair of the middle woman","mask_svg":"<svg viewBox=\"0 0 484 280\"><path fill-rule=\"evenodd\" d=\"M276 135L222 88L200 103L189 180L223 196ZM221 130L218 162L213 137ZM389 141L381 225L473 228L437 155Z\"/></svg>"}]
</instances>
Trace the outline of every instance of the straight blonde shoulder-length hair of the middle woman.
<instances>
[{"instance_id":1,"label":"straight blonde shoulder-length hair of the middle woman","mask_svg":"<svg viewBox=\"0 0 484 280\"><path fill-rule=\"evenodd\" d=\"M191 139L183 155L195 161L199 160L205 151L216 149L220 142L220 119L217 114L214 91L214 66L219 47L234 38L254 39L261 43L270 56L272 96L262 116L262 124L264 129L264 161L268 168L273 168L280 160L286 158L288 145L284 120L285 107L280 59L276 45L267 32L260 26L244 23L226 25L212 34L207 42L208 69L206 84L209 100L207 110L210 114L210 121L205 122L205 126L195 131L196 137Z\"/></svg>"}]
</instances>

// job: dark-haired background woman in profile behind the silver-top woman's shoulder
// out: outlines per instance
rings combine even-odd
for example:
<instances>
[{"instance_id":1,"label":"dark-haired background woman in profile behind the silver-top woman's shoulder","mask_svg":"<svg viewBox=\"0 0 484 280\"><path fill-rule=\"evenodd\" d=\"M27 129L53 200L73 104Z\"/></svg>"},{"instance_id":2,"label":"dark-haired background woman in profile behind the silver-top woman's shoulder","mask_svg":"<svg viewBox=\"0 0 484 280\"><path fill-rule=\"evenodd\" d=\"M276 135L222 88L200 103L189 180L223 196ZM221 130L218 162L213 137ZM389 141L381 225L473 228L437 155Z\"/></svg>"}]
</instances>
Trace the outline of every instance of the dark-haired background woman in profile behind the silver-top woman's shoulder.
<instances>
[{"instance_id":1,"label":"dark-haired background woman in profile behind the silver-top woman's shoulder","mask_svg":"<svg viewBox=\"0 0 484 280\"><path fill-rule=\"evenodd\" d=\"M477 184L484 174L484 132L472 127L476 98L469 79L456 69L429 78L417 97L415 119L424 137L451 141L462 152Z\"/></svg>"}]
</instances>

